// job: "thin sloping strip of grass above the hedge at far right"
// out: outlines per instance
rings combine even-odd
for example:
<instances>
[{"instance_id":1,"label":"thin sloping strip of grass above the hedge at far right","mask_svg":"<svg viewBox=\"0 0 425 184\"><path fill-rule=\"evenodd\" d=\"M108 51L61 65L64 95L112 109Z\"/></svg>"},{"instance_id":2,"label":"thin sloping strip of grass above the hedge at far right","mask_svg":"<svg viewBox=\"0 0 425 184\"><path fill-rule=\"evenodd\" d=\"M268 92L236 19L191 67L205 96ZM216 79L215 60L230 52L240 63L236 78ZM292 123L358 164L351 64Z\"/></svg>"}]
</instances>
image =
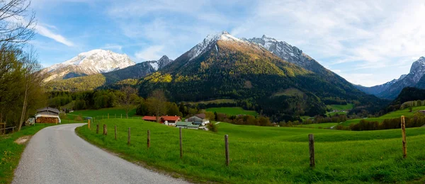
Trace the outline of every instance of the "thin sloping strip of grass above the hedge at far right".
<instances>
[{"instance_id":1,"label":"thin sloping strip of grass above the hedge at far right","mask_svg":"<svg viewBox=\"0 0 425 184\"><path fill-rule=\"evenodd\" d=\"M412 109L412 112L409 112L410 111L409 109L397 110L397 111L394 111L394 112L391 112L391 113L387 113L386 115L382 115L380 117L370 117L370 118L366 118L364 120L382 122L385 119L398 118L398 117L401 117L402 115L404 115L406 117L413 117L414 113L416 113L418 110L425 110L425 106L414 107ZM363 119L347 120L346 122L343 122L341 125L349 126L351 124L355 124L355 123L360 122L360 120L363 120Z\"/></svg>"}]
</instances>

